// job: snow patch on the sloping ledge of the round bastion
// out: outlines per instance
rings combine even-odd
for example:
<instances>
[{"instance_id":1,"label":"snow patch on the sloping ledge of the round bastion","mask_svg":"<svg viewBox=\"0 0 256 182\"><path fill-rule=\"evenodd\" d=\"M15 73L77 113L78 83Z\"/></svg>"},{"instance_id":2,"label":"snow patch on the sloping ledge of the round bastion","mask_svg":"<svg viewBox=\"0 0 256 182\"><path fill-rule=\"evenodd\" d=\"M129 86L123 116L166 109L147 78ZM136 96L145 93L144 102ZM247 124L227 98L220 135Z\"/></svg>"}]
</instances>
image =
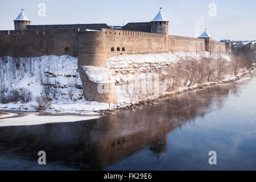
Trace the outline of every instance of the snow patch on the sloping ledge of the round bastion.
<instances>
[{"instance_id":1,"label":"snow patch on the sloping ledge of the round bastion","mask_svg":"<svg viewBox=\"0 0 256 182\"><path fill-rule=\"evenodd\" d=\"M89 80L97 84L109 84L114 83L115 80L110 75L108 69L102 67L93 67L93 66L81 66Z\"/></svg>"}]
</instances>

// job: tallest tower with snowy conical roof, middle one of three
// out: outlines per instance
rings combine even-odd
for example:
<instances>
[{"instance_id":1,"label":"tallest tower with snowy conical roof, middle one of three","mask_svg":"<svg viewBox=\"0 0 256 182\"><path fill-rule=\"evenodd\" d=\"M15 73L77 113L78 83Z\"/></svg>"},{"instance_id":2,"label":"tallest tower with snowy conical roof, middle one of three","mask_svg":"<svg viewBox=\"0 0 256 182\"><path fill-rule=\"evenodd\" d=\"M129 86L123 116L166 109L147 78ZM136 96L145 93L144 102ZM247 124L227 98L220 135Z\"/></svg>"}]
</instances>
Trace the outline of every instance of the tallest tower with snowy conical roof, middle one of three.
<instances>
[{"instance_id":1,"label":"tallest tower with snowy conical roof, middle one of three","mask_svg":"<svg viewBox=\"0 0 256 182\"><path fill-rule=\"evenodd\" d=\"M155 18L150 22L151 25L151 33L155 34L164 34L168 36L169 30L169 21L161 12L162 7L160 7L159 13L155 16Z\"/></svg>"}]
</instances>

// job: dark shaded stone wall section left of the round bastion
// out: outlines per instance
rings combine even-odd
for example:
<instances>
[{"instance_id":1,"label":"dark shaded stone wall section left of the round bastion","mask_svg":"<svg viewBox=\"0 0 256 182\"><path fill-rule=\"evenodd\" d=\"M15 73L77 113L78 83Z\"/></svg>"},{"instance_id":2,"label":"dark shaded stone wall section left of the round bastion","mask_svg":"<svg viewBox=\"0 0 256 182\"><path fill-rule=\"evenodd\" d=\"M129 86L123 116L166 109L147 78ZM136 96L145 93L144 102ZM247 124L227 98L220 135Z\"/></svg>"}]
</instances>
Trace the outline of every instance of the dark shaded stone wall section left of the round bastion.
<instances>
[{"instance_id":1,"label":"dark shaded stone wall section left of the round bastion","mask_svg":"<svg viewBox=\"0 0 256 182\"><path fill-rule=\"evenodd\" d=\"M0 31L0 55L39 57L78 56L79 28Z\"/></svg>"}]
</instances>

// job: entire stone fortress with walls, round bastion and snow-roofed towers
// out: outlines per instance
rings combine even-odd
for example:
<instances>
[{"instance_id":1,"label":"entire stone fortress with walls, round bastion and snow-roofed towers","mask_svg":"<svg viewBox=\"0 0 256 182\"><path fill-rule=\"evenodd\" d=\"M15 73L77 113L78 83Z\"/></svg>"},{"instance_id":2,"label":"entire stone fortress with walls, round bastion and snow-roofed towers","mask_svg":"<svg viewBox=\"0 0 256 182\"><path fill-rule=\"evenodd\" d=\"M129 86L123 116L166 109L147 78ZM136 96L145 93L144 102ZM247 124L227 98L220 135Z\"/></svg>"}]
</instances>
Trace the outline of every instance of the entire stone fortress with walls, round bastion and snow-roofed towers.
<instances>
[{"instance_id":1,"label":"entire stone fortress with walls, round bastion and snow-roofed towers","mask_svg":"<svg viewBox=\"0 0 256 182\"><path fill-rule=\"evenodd\" d=\"M22 10L14 20L15 30L0 31L0 56L78 57L85 99L115 104L115 82L108 81L111 76L105 69L108 57L168 51L231 52L230 42L214 42L206 30L199 38L188 38L168 35L168 26L161 10L151 22L128 23L118 29L107 24L31 25ZM105 78L92 80L88 75L90 67L99 67ZM100 84L109 92L98 93Z\"/></svg>"}]
</instances>

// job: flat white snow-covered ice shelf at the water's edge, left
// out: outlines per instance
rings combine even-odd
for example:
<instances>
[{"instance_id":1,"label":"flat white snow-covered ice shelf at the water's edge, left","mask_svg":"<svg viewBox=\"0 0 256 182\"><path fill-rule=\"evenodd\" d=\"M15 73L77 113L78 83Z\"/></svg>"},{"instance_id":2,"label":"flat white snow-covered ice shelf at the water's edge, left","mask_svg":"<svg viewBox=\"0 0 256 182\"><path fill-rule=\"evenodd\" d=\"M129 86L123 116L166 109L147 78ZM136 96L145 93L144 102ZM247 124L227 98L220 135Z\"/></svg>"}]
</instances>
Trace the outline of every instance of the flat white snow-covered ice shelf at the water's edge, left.
<instances>
[{"instance_id":1,"label":"flat white snow-covered ice shelf at the water's edge, left","mask_svg":"<svg viewBox=\"0 0 256 182\"><path fill-rule=\"evenodd\" d=\"M58 115L58 116L41 116L35 113L28 114L19 118L0 119L1 126L28 126L28 125L43 125L46 123L64 123L86 121L90 119L97 119L99 116L75 116L75 115Z\"/></svg>"}]
</instances>

